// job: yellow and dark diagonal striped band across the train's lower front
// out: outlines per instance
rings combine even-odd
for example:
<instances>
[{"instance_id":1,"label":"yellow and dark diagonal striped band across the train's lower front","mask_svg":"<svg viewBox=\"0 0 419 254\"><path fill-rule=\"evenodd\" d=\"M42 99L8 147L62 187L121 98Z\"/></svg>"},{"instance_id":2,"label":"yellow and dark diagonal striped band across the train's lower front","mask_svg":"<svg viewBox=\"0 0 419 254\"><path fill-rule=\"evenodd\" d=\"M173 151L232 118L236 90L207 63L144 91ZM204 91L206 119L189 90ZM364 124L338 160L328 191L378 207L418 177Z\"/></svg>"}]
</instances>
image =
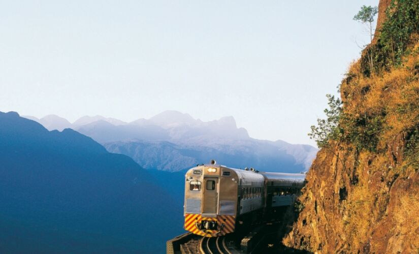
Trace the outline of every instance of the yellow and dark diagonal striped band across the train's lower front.
<instances>
[{"instance_id":1,"label":"yellow and dark diagonal striped band across the train's lower front","mask_svg":"<svg viewBox=\"0 0 419 254\"><path fill-rule=\"evenodd\" d=\"M199 225L201 225L202 220L216 221L217 230L201 230ZM185 214L185 224L184 229L190 231L196 235L213 237L213 236L223 236L228 233L233 233L236 224L236 217L233 215L217 215L215 218L202 217L201 214ZM218 233L218 235L216 235Z\"/></svg>"}]
</instances>

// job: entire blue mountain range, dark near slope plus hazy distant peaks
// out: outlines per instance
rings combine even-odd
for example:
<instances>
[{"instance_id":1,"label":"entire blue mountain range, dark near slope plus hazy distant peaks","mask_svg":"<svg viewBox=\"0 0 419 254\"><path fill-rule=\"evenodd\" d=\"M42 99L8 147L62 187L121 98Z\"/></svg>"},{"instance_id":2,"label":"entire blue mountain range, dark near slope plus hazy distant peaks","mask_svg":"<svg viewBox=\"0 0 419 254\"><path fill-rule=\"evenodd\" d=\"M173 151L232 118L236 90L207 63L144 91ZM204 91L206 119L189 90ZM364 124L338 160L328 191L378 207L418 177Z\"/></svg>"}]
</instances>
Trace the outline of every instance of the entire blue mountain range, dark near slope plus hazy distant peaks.
<instances>
[{"instance_id":1,"label":"entire blue mountain range, dark near slope plus hazy distant peaks","mask_svg":"<svg viewBox=\"0 0 419 254\"><path fill-rule=\"evenodd\" d=\"M164 252L165 241L184 232L187 168L216 158L296 172L316 151L252 139L233 117L204 122L167 111L131 123L70 123L0 112L0 249Z\"/></svg>"}]
</instances>

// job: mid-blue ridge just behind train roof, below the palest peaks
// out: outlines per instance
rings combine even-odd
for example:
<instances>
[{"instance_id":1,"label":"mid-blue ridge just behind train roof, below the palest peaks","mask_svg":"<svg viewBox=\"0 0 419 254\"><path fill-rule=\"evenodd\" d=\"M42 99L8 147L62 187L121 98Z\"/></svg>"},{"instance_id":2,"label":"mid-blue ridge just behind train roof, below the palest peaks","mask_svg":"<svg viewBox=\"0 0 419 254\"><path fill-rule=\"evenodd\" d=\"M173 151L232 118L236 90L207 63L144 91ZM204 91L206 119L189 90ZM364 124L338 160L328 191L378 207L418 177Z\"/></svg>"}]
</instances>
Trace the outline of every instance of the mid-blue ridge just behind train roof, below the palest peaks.
<instances>
[{"instance_id":1,"label":"mid-blue ridge just behind train roof, below the palest peaks","mask_svg":"<svg viewBox=\"0 0 419 254\"><path fill-rule=\"evenodd\" d=\"M275 145L252 140L240 144L218 143L213 146L131 140L105 143L104 146L108 151L132 157L146 169L172 172L207 163L208 158L216 158L218 162L234 168L254 167L266 171L301 172L305 169L304 163L309 160L307 156L313 156L316 152L313 149L311 153L304 155L306 157L301 155L301 161L298 162L295 155L288 154L288 151L293 150L285 151ZM297 146L298 148L300 147ZM301 151L297 149L294 153L299 155Z\"/></svg>"}]
</instances>

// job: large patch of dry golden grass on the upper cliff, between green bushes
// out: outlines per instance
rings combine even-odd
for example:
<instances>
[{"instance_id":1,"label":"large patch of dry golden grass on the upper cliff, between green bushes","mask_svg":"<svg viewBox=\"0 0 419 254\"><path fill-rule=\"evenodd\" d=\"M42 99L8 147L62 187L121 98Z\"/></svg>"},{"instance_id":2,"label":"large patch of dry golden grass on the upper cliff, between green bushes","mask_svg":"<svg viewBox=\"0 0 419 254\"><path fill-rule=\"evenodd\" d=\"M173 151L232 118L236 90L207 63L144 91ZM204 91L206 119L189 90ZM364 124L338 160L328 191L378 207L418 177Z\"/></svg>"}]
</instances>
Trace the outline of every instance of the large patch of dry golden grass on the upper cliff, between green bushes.
<instances>
[{"instance_id":1,"label":"large patch of dry golden grass on the upper cliff, between green bushes","mask_svg":"<svg viewBox=\"0 0 419 254\"><path fill-rule=\"evenodd\" d=\"M405 57L401 67L380 76L364 77L359 62L349 67L349 82L342 83L344 112L352 116L383 116L378 148L392 137L412 129L419 121L419 43Z\"/></svg>"}]
</instances>

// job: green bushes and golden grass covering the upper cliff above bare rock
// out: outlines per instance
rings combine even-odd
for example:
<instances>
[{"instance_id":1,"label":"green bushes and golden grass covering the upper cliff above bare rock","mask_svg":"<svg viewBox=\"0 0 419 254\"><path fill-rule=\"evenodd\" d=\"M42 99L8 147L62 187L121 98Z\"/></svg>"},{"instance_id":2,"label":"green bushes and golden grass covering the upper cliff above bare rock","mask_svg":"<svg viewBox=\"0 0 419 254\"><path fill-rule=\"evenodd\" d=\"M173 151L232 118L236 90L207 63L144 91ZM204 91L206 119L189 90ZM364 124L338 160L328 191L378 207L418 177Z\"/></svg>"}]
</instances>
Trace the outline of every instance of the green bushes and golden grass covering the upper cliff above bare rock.
<instances>
[{"instance_id":1,"label":"green bushes and golden grass covering the upper cliff above bare rock","mask_svg":"<svg viewBox=\"0 0 419 254\"><path fill-rule=\"evenodd\" d=\"M392 1L377 43L369 45L346 74L341 89L343 105L328 94L327 118L318 119L317 125L311 126L309 136L320 148L335 140L350 142L359 149L379 151L392 135L405 131L408 140L412 139L407 150L417 149L418 8L419 0L398 1L397 6ZM372 21L374 10L364 6L356 17ZM375 58L373 73L371 54ZM407 154L415 155L409 151Z\"/></svg>"}]
</instances>

